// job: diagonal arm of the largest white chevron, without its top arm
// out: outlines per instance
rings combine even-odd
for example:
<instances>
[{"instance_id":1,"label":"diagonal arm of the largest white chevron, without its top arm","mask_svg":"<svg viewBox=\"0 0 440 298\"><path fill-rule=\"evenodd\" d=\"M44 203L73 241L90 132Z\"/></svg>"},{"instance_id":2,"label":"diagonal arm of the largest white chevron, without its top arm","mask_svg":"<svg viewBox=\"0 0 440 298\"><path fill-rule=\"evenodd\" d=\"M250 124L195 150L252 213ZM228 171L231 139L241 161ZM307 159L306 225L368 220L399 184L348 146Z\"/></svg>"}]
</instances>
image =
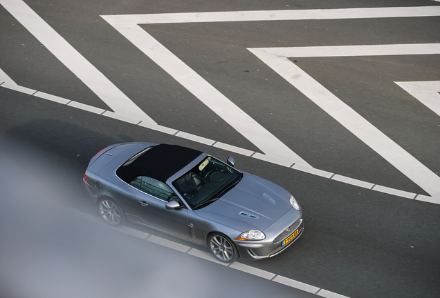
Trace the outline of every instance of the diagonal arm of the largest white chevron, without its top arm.
<instances>
[{"instance_id":1,"label":"diagonal arm of the largest white chevron, without its top arm","mask_svg":"<svg viewBox=\"0 0 440 298\"><path fill-rule=\"evenodd\" d=\"M102 18L266 155L288 161L293 160L309 166L309 163L306 163L271 132L247 115L244 110L241 110L143 28L140 28L135 23L136 18L131 23L123 24L113 23L112 16L102 16Z\"/></svg>"}]
</instances>

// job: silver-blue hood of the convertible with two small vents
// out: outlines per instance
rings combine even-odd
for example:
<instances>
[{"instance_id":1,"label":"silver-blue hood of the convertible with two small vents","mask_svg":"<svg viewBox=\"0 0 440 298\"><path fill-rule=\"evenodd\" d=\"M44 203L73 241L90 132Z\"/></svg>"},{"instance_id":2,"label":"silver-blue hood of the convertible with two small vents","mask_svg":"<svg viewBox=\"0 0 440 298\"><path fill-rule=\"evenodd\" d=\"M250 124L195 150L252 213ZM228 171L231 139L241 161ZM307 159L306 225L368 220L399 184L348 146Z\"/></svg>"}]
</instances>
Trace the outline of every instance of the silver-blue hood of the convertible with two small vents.
<instances>
[{"instance_id":1,"label":"silver-blue hood of the convertible with two small vents","mask_svg":"<svg viewBox=\"0 0 440 298\"><path fill-rule=\"evenodd\" d=\"M241 181L196 215L244 232L265 230L292 208L290 193L271 181L243 173Z\"/></svg>"}]
</instances>

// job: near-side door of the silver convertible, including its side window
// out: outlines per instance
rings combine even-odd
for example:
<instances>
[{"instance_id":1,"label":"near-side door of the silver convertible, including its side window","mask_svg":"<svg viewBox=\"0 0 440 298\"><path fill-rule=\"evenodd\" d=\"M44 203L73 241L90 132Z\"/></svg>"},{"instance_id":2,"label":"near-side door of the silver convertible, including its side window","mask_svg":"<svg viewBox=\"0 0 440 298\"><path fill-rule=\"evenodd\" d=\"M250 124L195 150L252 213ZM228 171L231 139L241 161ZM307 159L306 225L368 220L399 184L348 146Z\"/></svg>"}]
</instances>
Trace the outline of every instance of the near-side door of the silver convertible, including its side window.
<instances>
[{"instance_id":1,"label":"near-side door of the silver convertible, including its side window","mask_svg":"<svg viewBox=\"0 0 440 298\"><path fill-rule=\"evenodd\" d=\"M143 176L136 179L138 179L136 182L131 183L139 189L135 196L136 211L145 224L189 238L188 210L165 208L168 201L178 199L172 189L166 183L150 177Z\"/></svg>"}]
</instances>

